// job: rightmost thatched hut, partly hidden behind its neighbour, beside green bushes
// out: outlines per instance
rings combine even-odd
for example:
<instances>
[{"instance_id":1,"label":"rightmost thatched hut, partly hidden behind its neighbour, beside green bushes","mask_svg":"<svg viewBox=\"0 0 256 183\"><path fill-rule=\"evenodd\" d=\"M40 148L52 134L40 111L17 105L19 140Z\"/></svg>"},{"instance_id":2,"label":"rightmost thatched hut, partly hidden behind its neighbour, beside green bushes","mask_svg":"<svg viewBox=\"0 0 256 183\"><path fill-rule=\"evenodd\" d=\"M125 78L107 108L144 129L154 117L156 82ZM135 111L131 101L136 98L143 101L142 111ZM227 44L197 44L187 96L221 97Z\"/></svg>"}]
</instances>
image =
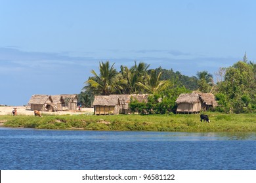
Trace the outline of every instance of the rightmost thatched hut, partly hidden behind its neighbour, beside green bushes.
<instances>
[{"instance_id":1,"label":"rightmost thatched hut, partly hidden behind its neighbour, beside green bushes","mask_svg":"<svg viewBox=\"0 0 256 183\"><path fill-rule=\"evenodd\" d=\"M215 96L212 93L198 93L200 95L202 110L209 110L215 108L218 103L215 100Z\"/></svg>"}]
</instances>

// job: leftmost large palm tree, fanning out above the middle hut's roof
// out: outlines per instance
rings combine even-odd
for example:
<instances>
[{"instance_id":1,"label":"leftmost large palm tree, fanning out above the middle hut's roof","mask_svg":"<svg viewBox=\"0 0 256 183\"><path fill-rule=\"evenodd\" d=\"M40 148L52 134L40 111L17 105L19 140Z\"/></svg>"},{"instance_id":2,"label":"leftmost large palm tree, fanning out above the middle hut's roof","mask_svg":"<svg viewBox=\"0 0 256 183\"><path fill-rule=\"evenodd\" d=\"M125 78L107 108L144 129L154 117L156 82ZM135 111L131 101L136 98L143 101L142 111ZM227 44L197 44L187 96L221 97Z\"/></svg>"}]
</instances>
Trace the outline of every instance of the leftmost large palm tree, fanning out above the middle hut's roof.
<instances>
[{"instance_id":1,"label":"leftmost large palm tree, fanning out above the middle hut's roof","mask_svg":"<svg viewBox=\"0 0 256 183\"><path fill-rule=\"evenodd\" d=\"M115 63L114 63L115 64ZM119 93L123 90L123 84L125 80L121 78L121 74L114 69L114 64L110 66L109 61L105 63L100 62L100 75L92 70L91 73L94 75L85 82L88 86L85 86L87 90L93 91L94 94L110 95L111 93Z\"/></svg>"}]
</instances>

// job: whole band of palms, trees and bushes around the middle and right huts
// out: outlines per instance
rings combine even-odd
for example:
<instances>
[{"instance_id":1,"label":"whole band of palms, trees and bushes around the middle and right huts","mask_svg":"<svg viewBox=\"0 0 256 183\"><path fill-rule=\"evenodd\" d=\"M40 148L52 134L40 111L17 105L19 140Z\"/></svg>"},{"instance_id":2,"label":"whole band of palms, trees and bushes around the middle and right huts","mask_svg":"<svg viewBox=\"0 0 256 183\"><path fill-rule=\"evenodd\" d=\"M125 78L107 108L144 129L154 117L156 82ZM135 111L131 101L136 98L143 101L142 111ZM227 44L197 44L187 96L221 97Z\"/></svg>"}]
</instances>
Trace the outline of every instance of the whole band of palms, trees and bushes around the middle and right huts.
<instances>
[{"instance_id":1,"label":"whole band of palms, trees and bushes around the middle and right huts","mask_svg":"<svg viewBox=\"0 0 256 183\"><path fill-rule=\"evenodd\" d=\"M213 75L207 71L198 72L196 76L184 76L172 69L148 70L150 65L140 62L131 68L121 65L120 71L114 69L114 64L108 61L100 62L100 74L93 70L93 76L85 82L83 92L79 94L81 103L91 105L94 95L110 94L152 94L148 103L132 100L133 112L140 114L170 114L177 106L175 101L181 93L191 93L192 90L203 93L213 93L220 112L255 112L256 110L256 67L252 61L238 61L232 67L221 68L221 77L217 84Z\"/></svg>"}]
</instances>

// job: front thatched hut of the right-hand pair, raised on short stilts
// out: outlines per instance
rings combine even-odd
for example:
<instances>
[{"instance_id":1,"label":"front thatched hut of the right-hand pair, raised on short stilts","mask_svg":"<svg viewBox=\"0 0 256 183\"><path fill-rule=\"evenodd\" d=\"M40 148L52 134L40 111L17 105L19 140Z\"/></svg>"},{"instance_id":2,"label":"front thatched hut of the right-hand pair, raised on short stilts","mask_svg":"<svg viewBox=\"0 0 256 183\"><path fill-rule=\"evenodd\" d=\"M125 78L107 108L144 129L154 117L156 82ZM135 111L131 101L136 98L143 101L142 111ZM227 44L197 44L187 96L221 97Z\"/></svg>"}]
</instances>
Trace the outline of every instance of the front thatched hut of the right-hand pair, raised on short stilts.
<instances>
[{"instance_id":1,"label":"front thatched hut of the right-hand pair, raised on short stilts","mask_svg":"<svg viewBox=\"0 0 256 183\"><path fill-rule=\"evenodd\" d=\"M182 93L176 103L177 113L198 113L202 109L198 93Z\"/></svg>"}]
</instances>

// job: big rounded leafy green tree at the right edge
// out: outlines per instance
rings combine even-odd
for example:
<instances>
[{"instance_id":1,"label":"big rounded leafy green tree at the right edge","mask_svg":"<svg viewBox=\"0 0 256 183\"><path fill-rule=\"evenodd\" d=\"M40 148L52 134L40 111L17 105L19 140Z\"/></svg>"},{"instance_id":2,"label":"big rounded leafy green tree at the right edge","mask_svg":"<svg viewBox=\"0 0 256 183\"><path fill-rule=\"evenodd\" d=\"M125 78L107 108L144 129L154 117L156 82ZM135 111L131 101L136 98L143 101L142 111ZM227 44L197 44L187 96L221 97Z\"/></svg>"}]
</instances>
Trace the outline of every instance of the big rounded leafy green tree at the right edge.
<instances>
[{"instance_id":1,"label":"big rounded leafy green tree at the right edge","mask_svg":"<svg viewBox=\"0 0 256 183\"><path fill-rule=\"evenodd\" d=\"M227 96L233 112L240 113L255 107L256 81L253 65L238 61L226 69L219 93Z\"/></svg>"}]
</instances>

